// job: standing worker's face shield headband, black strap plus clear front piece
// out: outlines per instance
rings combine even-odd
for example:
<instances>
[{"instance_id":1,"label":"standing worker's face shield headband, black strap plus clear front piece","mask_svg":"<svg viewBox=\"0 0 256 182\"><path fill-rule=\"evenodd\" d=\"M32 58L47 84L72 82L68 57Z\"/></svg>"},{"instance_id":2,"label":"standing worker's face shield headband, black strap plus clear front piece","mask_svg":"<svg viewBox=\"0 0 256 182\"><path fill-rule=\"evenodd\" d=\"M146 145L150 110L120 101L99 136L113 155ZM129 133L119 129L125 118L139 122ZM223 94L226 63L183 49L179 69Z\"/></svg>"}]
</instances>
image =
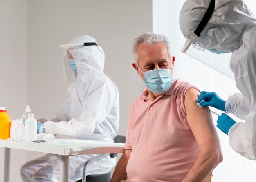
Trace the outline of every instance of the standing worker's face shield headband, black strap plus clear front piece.
<instances>
[{"instance_id":1,"label":"standing worker's face shield headband, black strap plus clear front piece","mask_svg":"<svg viewBox=\"0 0 256 182\"><path fill-rule=\"evenodd\" d=\"M209 22L211 15L213 14L215 8L215 0L211 0L207 11L204 14L204 17L202 18L201 22L199 23L198 27L196 28L196 30L194 31L193 36L191 37L191 39L186 39L186 42L184 44L184 46L182 47L181 51L183 53L186 53L186 51L189 49L189 46L193 43L193 40L195 39L195 37L200 37L200 33L203 31L204 27L207 25L207 23ZM200 44L201 43L201 44ZM200 45L202 45L203 42L198 42L198 44L194 44L195 48L198 48L200 50L205 50L205 47L202 47Z\"/></svg>"}]
</instances>

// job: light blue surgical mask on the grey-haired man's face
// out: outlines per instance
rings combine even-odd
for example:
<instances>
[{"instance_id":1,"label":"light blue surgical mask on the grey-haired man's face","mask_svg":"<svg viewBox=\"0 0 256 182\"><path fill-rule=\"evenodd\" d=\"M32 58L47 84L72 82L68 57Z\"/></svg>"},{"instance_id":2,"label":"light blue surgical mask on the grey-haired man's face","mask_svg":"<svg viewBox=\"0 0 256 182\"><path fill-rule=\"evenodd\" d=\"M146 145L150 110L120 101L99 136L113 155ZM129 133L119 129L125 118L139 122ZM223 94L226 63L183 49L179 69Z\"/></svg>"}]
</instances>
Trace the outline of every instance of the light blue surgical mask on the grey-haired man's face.
<instances>
[{"instance_id":1,"label":"light blue surgical mask on the grey-haired man's face","mask_svg":"<svg viewBox=\"0 0 256 182\"><path fill-rule=\"evenodd\" d=\"M142 73L145 75L145 85L148 90L156 94L163 94L173 83L170 69L154 69Z\"/></svg>"}]
</instances>

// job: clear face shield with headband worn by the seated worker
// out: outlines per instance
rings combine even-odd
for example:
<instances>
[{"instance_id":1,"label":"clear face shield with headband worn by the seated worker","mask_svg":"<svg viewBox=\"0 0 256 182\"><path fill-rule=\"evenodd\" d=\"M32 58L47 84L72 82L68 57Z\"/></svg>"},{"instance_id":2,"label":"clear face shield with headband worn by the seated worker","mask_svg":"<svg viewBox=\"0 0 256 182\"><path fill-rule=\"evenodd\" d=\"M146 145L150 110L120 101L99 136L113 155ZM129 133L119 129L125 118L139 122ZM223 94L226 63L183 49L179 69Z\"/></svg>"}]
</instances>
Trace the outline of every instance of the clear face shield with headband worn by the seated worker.
<instances>
[{"instance_id":1,"label":"clear face shield with headband worn by the seated worker","mask_svg":"<svg viewBox=\"0 0 256 182\"><path fill-rule=\"evenodd\" d=\"M75 75L74 71L72 68L70 68L68 64L69 56L68 52L72 53L72 50L79 49L83 46L97 46L96 42L86 42L82 44L76 44L76 43L70 43L70 44L65 44L61 45L61 58L62 58L62 64L63 64L63 72L64 72L64 77L67 81L67 83L71 83L75 81Z\"/></svg>"}]
</instances>

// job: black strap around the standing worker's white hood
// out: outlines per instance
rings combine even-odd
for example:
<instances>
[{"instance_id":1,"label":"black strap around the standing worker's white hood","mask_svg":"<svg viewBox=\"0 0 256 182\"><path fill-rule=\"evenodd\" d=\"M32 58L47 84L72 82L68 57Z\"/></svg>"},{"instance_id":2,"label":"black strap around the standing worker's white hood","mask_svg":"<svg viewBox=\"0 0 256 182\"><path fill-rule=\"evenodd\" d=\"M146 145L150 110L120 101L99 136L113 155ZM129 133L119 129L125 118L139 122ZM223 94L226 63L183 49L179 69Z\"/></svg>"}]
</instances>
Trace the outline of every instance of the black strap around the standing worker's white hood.
<instances>
[{"instance_id":1,"label":"black strap around the standing worker's white hood","mask_svg":"<svg viewBox=\"0 0 256 182\"><path fill-rule=\"evenodd\" d=\"M207 10L204 14L203 19L201 20L200 24L198 25L198 28L196 28L196 30L194 31L195 35L197 35L198 37L201 35L200 33L203 31L204 27L210 20L211 15L214 11L214 8L215 8L215 0L211 0L209 7L207 8Z\"/></svg>"}]
</instances>

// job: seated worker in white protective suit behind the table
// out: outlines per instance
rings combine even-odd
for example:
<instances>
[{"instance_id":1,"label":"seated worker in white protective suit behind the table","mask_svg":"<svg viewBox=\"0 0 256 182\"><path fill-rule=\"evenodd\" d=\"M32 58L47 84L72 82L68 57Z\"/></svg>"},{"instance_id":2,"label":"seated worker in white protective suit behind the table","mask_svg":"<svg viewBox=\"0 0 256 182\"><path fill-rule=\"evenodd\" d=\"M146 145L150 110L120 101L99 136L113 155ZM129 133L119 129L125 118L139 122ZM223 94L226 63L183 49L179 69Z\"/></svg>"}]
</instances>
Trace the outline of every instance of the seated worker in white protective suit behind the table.
<instances>
[{"instance_id":1,"label":"seated worker in white protective suit behind the table","mask_svg":"<svg viewBox=\"0 0 256 182\"><path fill-rule=\"evenodd\" d=\"M70 98L61 106L56 118L45 122L46 132L70 135L72 138L114 142L119 127L119 92L103 73L105 55L89 35L81 35L61 46L65 65L72 68L75 82L70 85ZM67 68L66 68L67 70ZM69 157L69 182L80 180L83 166L97 155ZM108 173L116 158L101 156L88 163L86 175ZM47 154L25 163L20 169L24 182L59 182L60 156Z\"/></svg>"}]
</instances>

